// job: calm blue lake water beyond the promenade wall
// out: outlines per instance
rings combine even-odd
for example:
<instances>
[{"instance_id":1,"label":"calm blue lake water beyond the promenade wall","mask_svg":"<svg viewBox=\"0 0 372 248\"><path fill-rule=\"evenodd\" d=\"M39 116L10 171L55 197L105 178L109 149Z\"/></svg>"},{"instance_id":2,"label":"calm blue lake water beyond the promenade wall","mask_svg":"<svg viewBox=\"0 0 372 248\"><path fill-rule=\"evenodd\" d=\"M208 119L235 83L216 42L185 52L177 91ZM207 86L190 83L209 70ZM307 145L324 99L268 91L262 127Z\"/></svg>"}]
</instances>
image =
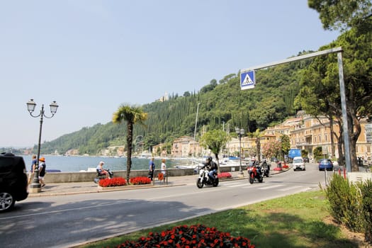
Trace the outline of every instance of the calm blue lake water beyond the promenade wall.
<instances>
[{"instance_id":1,"label":"calm blue lake water beyond the promenade wall","mask_svg":"<svg viewBox=\"0 0 372 248\"><path fill-rule=\"evenodd\" d=\"M59 169L62 172L76 172L81 170L87 170L88 168L96 168L98 163L103 161L104 169L111 169L112 171L126 170L127 159L124 157L78 157L78 156L42 156L45 157L45 164L47 169ZM31 167L31 156L23 156L26 163L26 169L29 170ZM132 158L132 168L137 169L148 169L150 159ZM160 169L162 164L161 159L154 159L155 168ZM167 159L165 162L167 168L171 169L177 165L191 164L190 160L187 159Z\"/></svg>"}]
</instances>

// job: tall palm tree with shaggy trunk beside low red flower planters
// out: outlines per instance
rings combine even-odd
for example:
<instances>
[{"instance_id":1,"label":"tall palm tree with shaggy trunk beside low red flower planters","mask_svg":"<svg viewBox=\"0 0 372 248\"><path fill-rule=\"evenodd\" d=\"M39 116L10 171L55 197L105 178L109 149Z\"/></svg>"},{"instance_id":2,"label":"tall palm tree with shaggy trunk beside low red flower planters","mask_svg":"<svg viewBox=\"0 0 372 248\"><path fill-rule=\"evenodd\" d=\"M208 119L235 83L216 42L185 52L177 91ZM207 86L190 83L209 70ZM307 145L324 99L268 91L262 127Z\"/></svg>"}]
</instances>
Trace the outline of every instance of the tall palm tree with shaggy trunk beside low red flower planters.
<instances>
[{"instance_id":1,"label":"tall palm tree with shaggy trunk beside low red flower planters","mask_svg":"<svg viewBox=\"0 0 372 248\"><path fill-rule=\"evenodd\" d=\"M133 125L135 123L144 124L147 120L147 113L138 106L122 105L118 111L113 113L113 123L127 122L127 181L129 182L130 168L132 168L132 143Z\"/></svg>"}]
</instances>

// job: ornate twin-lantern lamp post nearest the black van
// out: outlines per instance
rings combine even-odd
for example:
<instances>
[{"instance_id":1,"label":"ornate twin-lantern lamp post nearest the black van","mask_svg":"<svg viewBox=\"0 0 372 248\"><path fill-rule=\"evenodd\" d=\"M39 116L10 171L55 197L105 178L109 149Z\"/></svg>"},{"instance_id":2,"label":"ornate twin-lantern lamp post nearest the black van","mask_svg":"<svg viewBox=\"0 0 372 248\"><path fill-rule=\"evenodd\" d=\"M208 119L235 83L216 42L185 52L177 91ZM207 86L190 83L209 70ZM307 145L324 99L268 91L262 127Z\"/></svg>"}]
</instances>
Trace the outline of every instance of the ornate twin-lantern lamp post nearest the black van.
<instances>
[{"instance_id":1,"label":"ornate twin-lantern lamp post nearest the black van","mask_svg":"<svg viewBox=\"0 0 372 248\"><path fill-rule=\"evenodd\" d=\"M39 130L39 141L38 141L38 157L36 157L36 164L35 164L35 170L34 170L34 177L33 177L33 183L30 185L30 192L32 193L38 193L41 191L40 188L40 181L39 181L39 158L40 158L40 142L41 142L41 130L43 128L43 117L45 118L52 118L55 113L57 112L58 104L53 101L50 103L50 113L52 113L51 116L45 115L44 112L44 104L41 106L41 111L38 115L33 115L33 111L35 111L36 103L33 101L33 99L30 99L30 101L27 102L27 110L30 113L30 115L34 118L38 118L40 116L40 130Z\"/></svg>"}]
</instances>

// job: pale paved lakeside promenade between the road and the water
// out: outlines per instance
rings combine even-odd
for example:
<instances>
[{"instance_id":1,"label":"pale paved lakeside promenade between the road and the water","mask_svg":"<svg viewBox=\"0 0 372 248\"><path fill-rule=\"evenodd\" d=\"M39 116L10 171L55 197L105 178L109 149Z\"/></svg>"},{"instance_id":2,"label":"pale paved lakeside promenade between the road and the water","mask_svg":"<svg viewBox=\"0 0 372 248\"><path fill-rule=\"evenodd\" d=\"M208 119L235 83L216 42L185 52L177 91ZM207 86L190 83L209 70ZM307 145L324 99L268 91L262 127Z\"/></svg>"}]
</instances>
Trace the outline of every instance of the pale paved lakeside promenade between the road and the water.
<instances>
[{"instance_id":1,"label":"pale paved lakeside promenade between the road and the water","mask_svg":"<svg viewBox=\"0 0 372 248\"><path fill-rule=\"evenodd\" d=\"M274 171L270 170L270 175L288 171L285 169L283 171ZM247 171L243 171L243 177L239 174L239 171L231 171L231 178L220 179L220 181L231 181L231 180L242 180L247 178ZM94 181L85 181L85 182L75 182L75 183L59 183L59 184L47 184L45 187L41 188L40 193L29 193L28 198L31 197L40 197L40 196L64 196L72 195L78 193L104 193L109 191L123 191L123 190L134 190L137 188L154 188L154 187L169 187L169 186L181 186L188 184L195 184L198 175L192 176L169 176L168 183L163 183L162 181L155 180L154 184L146 184L141 186L124 186L123 188L112 189L105 188L102 190L98 187L98 184L95 184Z\"/></svg>"}]
</instances>

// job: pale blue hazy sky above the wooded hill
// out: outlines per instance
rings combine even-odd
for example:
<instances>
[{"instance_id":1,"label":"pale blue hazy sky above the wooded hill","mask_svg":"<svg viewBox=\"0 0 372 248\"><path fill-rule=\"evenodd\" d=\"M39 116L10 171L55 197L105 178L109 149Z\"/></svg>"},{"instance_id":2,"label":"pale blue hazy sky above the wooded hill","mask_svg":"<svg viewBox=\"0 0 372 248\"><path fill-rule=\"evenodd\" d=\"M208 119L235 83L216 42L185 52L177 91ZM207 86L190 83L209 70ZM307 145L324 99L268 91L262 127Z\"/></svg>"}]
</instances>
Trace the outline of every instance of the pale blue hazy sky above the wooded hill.
<instances>
[{"instance_id":1,"label":"pale blue hazy sky above the wooded hill","mask_svg":"<svg viewBox=\"0 0 372 248\"><path fill-rule=\"evenodd\" d=\"M339 35L307 0L0 0L0 31L0 147L38 143L30 98L37 114L60 106L44 118L50 141Z\"/></svg>"}]
</instances>

